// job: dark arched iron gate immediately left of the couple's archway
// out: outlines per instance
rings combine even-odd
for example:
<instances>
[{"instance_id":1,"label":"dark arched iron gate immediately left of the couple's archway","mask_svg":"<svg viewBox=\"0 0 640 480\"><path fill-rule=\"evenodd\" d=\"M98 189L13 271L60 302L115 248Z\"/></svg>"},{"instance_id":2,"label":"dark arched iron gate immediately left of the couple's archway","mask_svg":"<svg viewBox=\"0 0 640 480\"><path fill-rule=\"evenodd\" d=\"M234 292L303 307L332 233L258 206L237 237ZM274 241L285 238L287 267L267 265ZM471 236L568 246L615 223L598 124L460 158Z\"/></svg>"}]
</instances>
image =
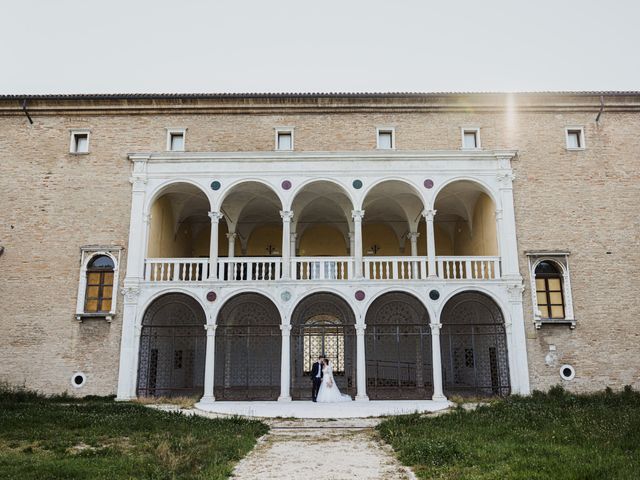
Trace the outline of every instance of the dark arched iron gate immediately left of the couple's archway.
<instances>
[{"instance_id":1,"label":"dark arched iron gate immediately left of the couple's archway","mask_svg":"<svg viewBox=\"0 0 640 480\"><path fill-rule=\"evenodd\" d=\"M220 400L276 400L280 394L282 332L266 297L243 293L218 315L214 395Z\"/></svg>"}]
</instances>

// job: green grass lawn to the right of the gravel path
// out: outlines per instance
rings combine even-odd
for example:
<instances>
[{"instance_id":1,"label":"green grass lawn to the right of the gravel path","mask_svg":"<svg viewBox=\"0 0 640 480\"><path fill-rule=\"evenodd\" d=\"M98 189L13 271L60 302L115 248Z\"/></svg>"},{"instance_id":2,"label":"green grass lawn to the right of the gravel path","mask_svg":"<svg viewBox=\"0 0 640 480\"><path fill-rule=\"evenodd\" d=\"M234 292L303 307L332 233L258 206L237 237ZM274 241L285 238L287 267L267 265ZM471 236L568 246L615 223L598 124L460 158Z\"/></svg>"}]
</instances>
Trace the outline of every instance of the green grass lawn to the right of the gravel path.
<instances>
[{"instance_id":1,"label":"green grass lawn to the right of the gravel path","mask_svg":"<svg viewBox=\"0 0 640 480\"><path fill-rule=\"evenodd\" d=\"M378 426L419 478L638 479L640 393L513 396L475 411Z\"/></svg>"}]
</instances>

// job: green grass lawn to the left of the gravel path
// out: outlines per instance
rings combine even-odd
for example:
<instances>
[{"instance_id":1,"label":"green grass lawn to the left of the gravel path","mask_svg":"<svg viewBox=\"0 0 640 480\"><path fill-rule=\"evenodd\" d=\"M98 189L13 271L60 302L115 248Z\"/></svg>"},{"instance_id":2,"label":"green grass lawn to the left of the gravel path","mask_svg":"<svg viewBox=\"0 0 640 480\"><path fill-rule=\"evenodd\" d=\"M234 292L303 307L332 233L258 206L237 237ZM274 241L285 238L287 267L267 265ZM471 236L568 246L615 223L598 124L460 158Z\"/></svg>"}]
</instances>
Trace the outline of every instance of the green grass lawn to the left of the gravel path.
<instances>
[{"instance_id":1,"label":"green grass lawn to the left of the gravel path","mask_svg":"<svg viewBox=\"0 0 640 480\"><path fill-rule=\"evenodd\" d=\"M0 479L220 479L268 428L110 399L0 391Z\"/></svg>"}]
</instances>

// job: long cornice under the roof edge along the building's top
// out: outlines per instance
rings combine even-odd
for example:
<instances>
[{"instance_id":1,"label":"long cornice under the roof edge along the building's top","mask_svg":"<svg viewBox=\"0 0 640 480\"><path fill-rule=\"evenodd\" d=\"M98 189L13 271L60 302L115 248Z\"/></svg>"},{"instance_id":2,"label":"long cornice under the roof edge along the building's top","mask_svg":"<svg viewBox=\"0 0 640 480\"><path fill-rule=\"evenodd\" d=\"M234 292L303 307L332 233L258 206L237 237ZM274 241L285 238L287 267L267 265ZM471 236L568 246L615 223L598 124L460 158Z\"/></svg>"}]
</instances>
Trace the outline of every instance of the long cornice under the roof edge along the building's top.
<instances>
[{"instance_id":1,"label":"long cornice under the roof edge along the building's top","mask_svg":"<svg viewBox=\"0 0 640 480\"><path fill-rule=\"evenodd\" d=\"M640 92L0 95L0 115L640 111Z\"/></svg>"}]
</instances>

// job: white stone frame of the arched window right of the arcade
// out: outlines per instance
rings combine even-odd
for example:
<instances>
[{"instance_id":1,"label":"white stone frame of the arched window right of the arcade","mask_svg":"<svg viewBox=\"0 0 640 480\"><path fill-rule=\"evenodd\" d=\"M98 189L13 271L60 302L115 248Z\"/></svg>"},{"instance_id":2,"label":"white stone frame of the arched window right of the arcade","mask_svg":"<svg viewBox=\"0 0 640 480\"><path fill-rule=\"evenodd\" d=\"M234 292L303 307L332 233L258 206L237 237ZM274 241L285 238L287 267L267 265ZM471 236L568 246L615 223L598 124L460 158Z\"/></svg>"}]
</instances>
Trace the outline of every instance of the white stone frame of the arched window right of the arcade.
<instances>
[{"instance_id":1,"label":"white stone frame of the arched window right of the arcade","mask_svg":"<svg viewBox=\"0 0 640 480\"><path fill-rule=\"evenodd\" d=\"M531 305L533 307L533 322L536 329L540 329L543 324L563 324L569 325L573 330L576 328L576 319L573 313L573 295L571 294L571 275L569 271L570 252L526 252L529 258L529 279L531 288ZM538 297L536 295L536 267L540 262L553 262L562 274L562 295L564 297L564 318L543 318L538 310Z\"/></svg>"}]
</instances>

